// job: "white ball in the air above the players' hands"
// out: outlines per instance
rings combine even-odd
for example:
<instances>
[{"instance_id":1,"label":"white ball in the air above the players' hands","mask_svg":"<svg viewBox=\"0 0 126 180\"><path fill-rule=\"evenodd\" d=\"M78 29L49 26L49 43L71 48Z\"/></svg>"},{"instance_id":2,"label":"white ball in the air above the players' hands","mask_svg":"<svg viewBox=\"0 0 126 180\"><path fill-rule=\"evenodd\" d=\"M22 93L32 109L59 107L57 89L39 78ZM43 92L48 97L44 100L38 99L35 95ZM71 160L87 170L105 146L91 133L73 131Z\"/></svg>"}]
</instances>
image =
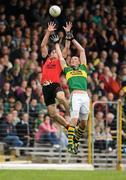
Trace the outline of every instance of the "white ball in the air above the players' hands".
<instances>
[{"instance_id":1,"label":"white ball in the air above the players' hands","mask_svg":"<svg viewBox=\"0 0 126 180\"><path fill-rule=\"evenodd\" d=\"M58 17L60 15L60 13L61 13L61 9L57 5L53 5L49 8L49 14L52 17Z\"/></svg>"}]
</instances>

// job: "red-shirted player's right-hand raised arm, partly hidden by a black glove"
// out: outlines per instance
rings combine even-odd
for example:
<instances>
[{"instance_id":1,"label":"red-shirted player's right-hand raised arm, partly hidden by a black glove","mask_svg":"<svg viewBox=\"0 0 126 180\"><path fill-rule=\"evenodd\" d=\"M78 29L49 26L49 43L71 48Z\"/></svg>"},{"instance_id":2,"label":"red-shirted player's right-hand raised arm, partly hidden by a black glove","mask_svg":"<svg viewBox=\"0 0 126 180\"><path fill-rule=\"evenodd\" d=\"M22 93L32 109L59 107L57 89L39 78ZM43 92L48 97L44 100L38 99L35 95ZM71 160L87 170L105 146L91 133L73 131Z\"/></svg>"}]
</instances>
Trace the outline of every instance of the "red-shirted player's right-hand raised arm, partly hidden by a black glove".
<instances>
[{"instance_id":1,"label":"red-shirted player's right-hand raised arm, partly hidden by a black glove","mask_svg":"<svg viewBox=\"0 0 126 180\"><path fill-rule=\"evenodd\" d=\"M66 33L70 32L71 28L72 28L72 23L71 22L66 22L66 26L63 26L64 30ZM68 55L68 52L69 52L69 49L70 49L70 40L66 39L65 41L65 47L64 49L62 50L62 54L63 54L63 57L66 58L67 55Z\"/></svg>"}]
</instances>

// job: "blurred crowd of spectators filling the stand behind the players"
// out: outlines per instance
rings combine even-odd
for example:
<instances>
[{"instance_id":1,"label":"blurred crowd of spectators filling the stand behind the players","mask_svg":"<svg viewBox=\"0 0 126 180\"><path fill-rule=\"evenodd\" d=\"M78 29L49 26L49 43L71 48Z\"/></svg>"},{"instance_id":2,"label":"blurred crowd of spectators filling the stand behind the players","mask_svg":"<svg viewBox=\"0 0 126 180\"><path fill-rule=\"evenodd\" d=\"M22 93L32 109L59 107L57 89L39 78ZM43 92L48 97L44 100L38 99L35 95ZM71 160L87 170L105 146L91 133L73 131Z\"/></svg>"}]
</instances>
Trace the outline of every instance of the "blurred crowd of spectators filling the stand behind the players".
<instances>
[{"instance_id":1,"label":"blurred crowd of spectators filling the stand behind the players","mask_svg":"<svg viewBox=\"0 0 126 180\"><path fill-rule=\"evenodd\" d=\"M67 145L62 128L47 115L42 94L40 52L47 24L55 21L64 45L66 22L73 23L74 37L85 48L88 61L88 94L92 101L123 104L123 142L126 141L126 4L123 0L3 0L0 1L0 140L12 146L33 146L36 141ZM53 19L52 4L62 13ZM51 45L51 43L50 43ZM73 45L68 57L77 54ZM65 76L61 86L69 99ZM57 111L64 116L57 102ZM95 110L95 139L113 147L116 108ZM113 125L114 124L114 125ZM114 128L113 128L114 127ZM62 132L62 133L61 133ZM12 137L14 139L12 140ZM62 142L61 142L62 140ZM103 147L104 148L104 143Z\"/></svg>"}]
</instances>

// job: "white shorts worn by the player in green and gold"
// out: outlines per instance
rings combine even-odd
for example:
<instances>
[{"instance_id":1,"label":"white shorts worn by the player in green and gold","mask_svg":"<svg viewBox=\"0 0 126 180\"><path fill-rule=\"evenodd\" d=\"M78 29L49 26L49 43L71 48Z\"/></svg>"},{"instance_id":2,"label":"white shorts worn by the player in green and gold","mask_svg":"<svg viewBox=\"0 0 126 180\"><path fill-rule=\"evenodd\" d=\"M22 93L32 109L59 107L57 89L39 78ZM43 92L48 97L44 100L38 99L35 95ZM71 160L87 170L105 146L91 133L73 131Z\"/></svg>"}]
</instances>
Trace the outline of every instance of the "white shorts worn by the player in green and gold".
<instances>
[{"instance_id":1,"label":"white shorts worn by the player in green and gold","mask_svg":"<svg viewBox=\"0 0 126 180\"><path fill-rule=\"evenodd\" d=\"M71 119L88 120L90 110L90 98L86 92L72 93L70 97Z\"/></svg>"}]
</instances>

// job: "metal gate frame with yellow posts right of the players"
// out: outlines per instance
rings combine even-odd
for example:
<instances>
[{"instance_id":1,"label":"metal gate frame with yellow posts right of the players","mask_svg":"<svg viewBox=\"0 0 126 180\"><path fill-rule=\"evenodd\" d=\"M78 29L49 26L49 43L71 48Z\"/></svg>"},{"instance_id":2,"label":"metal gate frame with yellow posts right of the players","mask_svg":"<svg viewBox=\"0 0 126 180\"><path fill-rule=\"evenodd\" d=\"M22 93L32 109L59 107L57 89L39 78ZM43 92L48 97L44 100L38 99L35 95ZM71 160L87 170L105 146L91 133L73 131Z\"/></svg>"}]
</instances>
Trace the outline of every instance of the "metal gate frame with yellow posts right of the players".
<instances>
[{"instance_id":1,"label":"metal gate frame with yellow posts right of the players","mask_svg":"<svg viewBox=\"0 0 126 180\"><path fill-rule=\"evenodd\" d=\"M115 119L116 121L116 129L115 135L113 136L114 139L114 147L110 149L110 152L107 149L99 152L96 150L94 146L95 143L95 115L98 111L97 107L101 105L104 109L100 111L104 111L105 116L109 113L108 106L115 108ZM111 112L111 108L109 109ZM104 122L105 123L105 122ZM105 124L107 127L107 124ZM121 101L96 101L91 104L91 114L89 118L89 126L88 126L88 160L89 163L92 163L94 167L99 169L108 169L108 168L116 168L118 170L122 169L122 103ZM107 147L107 144L106 144ZM123 156L124 157L124 156Z\"/></svg>"}]
</instances>

